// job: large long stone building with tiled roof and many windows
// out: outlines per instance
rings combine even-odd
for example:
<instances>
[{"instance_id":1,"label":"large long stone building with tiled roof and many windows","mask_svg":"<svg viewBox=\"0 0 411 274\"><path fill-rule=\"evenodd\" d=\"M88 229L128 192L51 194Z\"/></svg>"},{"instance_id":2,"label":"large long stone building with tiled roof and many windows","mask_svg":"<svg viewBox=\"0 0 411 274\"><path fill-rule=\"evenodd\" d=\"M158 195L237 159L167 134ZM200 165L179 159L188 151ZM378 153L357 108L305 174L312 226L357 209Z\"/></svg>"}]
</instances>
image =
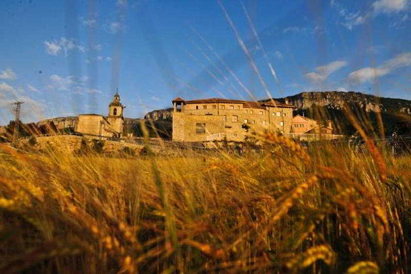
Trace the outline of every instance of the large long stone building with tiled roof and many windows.
<instances>
[{"instance_id":1,"label":"large long stone building with tiled roof and many windows","mask_svg":"<svg viewBox=\"0 0 411 274\"><path fill-rule=\"evenodd\" d=\"M173 141L243 141L251 132L289 133L292 110L287 102L249 102L229 99L173 101Z\"/></svg>"}]
</instances>

